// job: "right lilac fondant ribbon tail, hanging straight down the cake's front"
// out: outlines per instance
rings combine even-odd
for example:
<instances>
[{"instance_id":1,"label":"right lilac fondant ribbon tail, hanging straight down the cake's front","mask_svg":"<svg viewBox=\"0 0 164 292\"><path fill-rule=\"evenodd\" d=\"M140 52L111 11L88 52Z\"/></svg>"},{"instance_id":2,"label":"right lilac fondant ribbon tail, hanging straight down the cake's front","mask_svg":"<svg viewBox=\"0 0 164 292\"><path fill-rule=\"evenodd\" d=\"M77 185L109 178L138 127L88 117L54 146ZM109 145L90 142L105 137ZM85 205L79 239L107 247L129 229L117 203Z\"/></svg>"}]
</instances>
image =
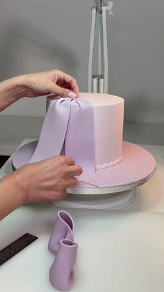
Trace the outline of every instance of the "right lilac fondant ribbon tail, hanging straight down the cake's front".
<instances>
[{"instance_id":1,"label":"right lilac fondant ribbon tail, hanging straight down the cake's front","mask_svg":"<svg viewBox=\"0 0 164 292\"><path fill-rule=\"evenodd\" d=\"M81 165L83 174L77 177L79 182L97 186L94 116L89 102L72 100L65 155L74 157L76 164Z\"/></svg>"}]
</instances>

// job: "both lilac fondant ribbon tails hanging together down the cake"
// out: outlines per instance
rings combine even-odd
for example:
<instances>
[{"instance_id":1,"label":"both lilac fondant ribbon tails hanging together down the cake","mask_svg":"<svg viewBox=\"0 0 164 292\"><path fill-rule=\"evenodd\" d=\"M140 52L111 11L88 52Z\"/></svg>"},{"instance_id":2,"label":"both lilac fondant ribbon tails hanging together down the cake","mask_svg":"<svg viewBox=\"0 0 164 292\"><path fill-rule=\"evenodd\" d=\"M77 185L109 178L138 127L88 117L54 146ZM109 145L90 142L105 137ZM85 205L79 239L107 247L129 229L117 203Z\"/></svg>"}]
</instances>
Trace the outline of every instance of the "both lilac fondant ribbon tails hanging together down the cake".
<instances>
[{"instance_id":1,"label":"both lilac fondant ribbon tails hanging together down the cake","mask_svg":"<svg viewBox=\"0 0 164 292\"><path fill-rule=\"evenodd\" d=\"M90 102L69 98L51 101L38 146L28 163L60 155L63 146L65 155L73 157L83 169L78 180L97 186L94 115Z\"/></svg>"}]
</instances>

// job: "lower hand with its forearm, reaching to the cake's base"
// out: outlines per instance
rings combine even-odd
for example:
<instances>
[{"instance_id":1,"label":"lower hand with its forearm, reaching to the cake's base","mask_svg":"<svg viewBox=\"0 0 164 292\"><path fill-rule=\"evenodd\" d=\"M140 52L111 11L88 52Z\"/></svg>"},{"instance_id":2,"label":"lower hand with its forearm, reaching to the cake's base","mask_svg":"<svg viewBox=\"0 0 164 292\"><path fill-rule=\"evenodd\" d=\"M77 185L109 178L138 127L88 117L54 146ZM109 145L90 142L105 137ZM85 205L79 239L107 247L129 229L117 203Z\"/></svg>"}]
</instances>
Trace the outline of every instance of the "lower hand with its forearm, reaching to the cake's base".
<instances>
[{"instance_id":1,"label":"lower hand with its forearm, reaching to the cake's base","mask_svg":"<svg viewBox=\"0 0 164 292\"><path fill-rule=\"evenodd\" d=\"M0 220L23 203L58 201L66 189L76 187L81 167L67 156L26 164L0 180Z\"/></svg>"}]
</instances>

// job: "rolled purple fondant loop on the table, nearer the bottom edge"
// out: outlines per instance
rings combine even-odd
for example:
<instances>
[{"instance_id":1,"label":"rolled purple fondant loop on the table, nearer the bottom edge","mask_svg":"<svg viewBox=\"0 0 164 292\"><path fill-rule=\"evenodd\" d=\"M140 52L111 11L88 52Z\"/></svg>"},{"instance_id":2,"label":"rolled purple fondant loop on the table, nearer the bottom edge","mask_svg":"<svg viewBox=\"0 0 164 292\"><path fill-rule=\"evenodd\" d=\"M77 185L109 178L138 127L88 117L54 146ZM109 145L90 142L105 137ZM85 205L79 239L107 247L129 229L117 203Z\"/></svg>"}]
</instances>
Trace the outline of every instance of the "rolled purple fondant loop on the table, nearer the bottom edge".
<instances>
[{"instance_id":1,"label":"rolled purple fondant loop on the table, nearer the bottom edge","mask_svg":"<svg viewBox=\"0 0 164 292\"><path fill-rule=\"evenodd\" d=\"M55 289L68 291L74 282L73 267L76 263L78 244L72 240L60 240L58 253L49 270L49 280Z\"/></svg>"}]
</instances>

